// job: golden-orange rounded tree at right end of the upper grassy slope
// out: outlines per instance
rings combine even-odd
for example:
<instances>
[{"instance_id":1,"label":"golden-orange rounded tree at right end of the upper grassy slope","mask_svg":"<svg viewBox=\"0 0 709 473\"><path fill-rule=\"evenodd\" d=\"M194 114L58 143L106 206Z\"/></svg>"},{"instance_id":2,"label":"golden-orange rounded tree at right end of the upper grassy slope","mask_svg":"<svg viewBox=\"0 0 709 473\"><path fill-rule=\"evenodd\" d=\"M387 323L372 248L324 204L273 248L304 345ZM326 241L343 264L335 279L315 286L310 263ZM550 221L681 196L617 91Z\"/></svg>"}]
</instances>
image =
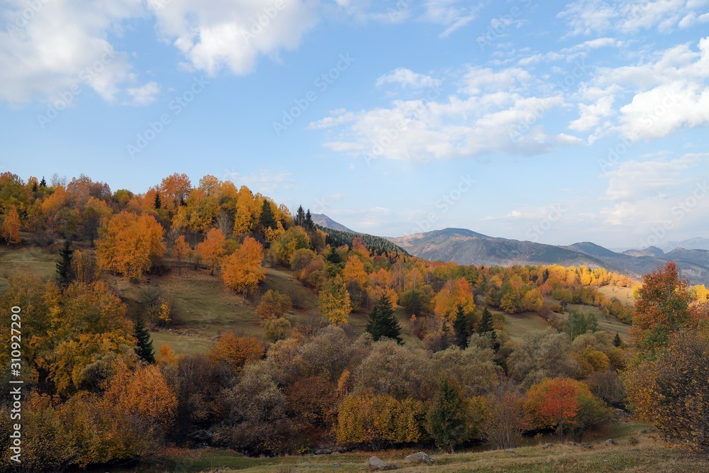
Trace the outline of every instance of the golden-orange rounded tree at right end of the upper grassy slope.
<instances>
[{"instance_id":1,"label":"golden-orange rounded tree at right end of the upper grassy slope","mask_svg":"<svg viewBox=\"0 0 709 473\"><path fill-rule=\"evenodd\" d=\"M245 238L238 250L222 260L224 284L243 294L254 291L259 282L266 279L266 270L261 267L263 258L261 243L251 237Z\"/></svg>"}]
</instances>

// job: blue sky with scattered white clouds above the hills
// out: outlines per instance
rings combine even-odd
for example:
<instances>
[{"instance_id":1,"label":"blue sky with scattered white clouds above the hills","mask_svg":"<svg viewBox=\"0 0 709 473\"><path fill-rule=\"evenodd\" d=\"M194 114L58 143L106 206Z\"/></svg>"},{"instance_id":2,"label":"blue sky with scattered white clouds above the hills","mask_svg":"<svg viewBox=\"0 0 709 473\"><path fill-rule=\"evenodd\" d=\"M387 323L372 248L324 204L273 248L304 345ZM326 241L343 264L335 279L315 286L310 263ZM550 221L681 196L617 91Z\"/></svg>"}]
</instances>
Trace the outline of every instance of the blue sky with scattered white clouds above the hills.
<instances>
[{"instance_id":1,"label":"blue sky with scattered white clouds above the hills","mask_svg":"<svg viewBox=\"0 0 709 473\"><path fill-rule=\"evenodd\" d=\"M709 0L6 0L0 172L357 231L709 237Z\"/></svg>"}]
</instances>

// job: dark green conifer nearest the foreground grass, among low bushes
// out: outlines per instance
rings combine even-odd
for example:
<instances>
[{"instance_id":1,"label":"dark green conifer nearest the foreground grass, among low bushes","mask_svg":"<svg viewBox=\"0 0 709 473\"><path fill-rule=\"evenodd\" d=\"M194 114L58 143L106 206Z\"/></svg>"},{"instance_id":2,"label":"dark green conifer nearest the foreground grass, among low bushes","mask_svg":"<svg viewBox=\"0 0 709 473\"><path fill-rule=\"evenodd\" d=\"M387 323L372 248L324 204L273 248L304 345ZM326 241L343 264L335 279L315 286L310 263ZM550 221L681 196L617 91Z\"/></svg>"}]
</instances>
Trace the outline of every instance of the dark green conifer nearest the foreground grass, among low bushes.
<instances>
[{"instance_id":1,"label":"dark green conifer nearest the foreground grass, among low bushes","mask_svg":"<svg viewBox=\"0 0 709 473\"><path fill-rule=\"evenodd\" d=\"M454 379L442 379L428 413L428 433L437 447L453 448L467 433L468 413L460 387Z\"/></svg>"}]
</instances>

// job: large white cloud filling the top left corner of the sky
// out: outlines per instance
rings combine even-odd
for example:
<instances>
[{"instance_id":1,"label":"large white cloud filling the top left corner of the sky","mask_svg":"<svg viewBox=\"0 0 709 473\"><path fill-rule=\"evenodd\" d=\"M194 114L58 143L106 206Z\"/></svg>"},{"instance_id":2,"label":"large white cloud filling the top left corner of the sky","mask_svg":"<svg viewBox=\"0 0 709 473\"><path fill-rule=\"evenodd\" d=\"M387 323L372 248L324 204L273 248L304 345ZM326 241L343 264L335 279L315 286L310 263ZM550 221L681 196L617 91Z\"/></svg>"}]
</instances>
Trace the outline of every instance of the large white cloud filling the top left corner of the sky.
<instances>
[{"instance_id":1,"label":"large white cloud filling the top left corner of the sky","mask_svg":"<svg viewBox=\"0 0 709 473\"><path fill-rule=\"evenodd\" d=\"M108 42L108 31L120 34L122 21L145 14L140 0L33 5L11 0L1 7L7 23L0 30L0 100L51 100L90 87L114 101L122 87L138 82L128 55Z\"/></svg>"}]
</instances>

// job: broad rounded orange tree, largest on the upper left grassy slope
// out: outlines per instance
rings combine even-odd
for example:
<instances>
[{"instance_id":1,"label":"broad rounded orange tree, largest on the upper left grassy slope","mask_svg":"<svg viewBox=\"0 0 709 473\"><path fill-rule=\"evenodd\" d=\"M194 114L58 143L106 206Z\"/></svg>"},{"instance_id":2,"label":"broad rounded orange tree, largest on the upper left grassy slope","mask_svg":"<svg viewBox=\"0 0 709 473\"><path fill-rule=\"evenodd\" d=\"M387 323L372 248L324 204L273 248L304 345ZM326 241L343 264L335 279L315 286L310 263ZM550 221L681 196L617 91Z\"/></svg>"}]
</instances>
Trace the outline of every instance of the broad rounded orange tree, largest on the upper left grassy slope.
<instances>
[{"instance_id":1,"label":"broad rounded orange tree, largest on the upper left grassy slope","mask_svg":"<svg viewBox=\"0 0 709 473\"><path fill-rule=\"evenodd\" d=\"M143 274L160 260L164 252L164 229L150 215L121 212L101 229L96 242L99 265L131 279Z\"/></svg>"}]
</instances>

